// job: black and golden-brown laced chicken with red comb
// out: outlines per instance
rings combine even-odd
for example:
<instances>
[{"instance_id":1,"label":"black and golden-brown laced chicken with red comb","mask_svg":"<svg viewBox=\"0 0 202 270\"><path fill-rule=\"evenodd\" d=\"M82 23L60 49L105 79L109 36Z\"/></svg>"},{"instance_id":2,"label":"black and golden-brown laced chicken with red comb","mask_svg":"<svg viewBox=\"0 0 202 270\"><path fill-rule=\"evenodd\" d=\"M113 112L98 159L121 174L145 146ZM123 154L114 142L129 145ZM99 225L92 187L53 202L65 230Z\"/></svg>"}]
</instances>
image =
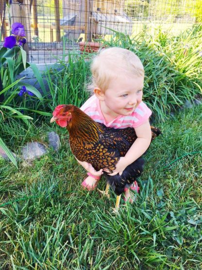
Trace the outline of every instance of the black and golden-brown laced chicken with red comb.
<instances>
[{"instance_id":1,"label":"black and golden-brown laced chicken with red comb","mask_svg":"<svg viewBox=\"0 0 202 270\"><path fill-rule=\"evenodd\" d=\"M69 132L69 144L73 155L79 161L85 161L96 171L107 168L110 172L115 170L120 157L126 155L137 136L134 128L127 127L115 129L95 122L80 108L73 105L59 105L53 111L50 123L66 127ZM152 127L152 139L161 132ZM128 165L122 175L110 176L103 173L109 185L116 193L116 208L119 207L120 196L125 186L131 185L143 172L144 159L142 157Z\"/></svg>"}]
</instances>

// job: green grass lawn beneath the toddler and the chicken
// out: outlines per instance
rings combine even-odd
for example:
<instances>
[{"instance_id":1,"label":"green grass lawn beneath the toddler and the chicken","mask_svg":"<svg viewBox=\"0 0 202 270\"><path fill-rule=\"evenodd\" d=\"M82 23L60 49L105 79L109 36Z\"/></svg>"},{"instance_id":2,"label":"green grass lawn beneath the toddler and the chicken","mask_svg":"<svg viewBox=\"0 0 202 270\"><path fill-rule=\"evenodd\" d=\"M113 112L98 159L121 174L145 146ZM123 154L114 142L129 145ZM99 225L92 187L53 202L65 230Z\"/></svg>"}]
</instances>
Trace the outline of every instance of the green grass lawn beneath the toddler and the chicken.
<instances>
[{"instance_id":1,"label":"green grass lawn beneath the toddler and the chicken","mask_svg":"<svg viewBox=\"0 0 202 270\"><path fill-rule=\"evenodd\" d=\"M6 141L12 150L31 139L46 144L50 130L58 132L62 146L32 166L20 162L19 170L0 159L0 269L201 269L201 154L169 164L202 151L202 106L156 125L163 136L145 156L140 194L115 216L112 191L110 201L82 191L85 172L70 152L65 129L3 123L5 138L16 134Z\"/></svg>"}]
</instances>

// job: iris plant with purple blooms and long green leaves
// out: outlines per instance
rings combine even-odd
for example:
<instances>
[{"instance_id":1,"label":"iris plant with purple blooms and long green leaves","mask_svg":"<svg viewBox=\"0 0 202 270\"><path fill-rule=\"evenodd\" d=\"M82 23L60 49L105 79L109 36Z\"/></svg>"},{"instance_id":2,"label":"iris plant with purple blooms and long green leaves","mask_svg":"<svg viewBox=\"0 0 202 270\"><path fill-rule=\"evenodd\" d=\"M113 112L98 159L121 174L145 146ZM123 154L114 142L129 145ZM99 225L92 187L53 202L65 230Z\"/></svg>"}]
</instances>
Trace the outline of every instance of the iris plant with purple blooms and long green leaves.
<instances>
[{"instance_id":1,"label":"iris plant with purple blooms and long green leaves","mask_svg":"<svg viewBox=\"0 0 202 270\"><path fill-rule=\"evenodd\" d=\"M29 100L30 103L31 98L29 96L32 95L35 99L38 99L41 104L43 104L43 98L41 93L34 86L23 83L23 78L17 79L17 75L30 67L31 64L26 62L26 52L20 46L20 40L23 40L24 42L25 39L23 27L21 27L22 25L20 23L16 24L16 26L20 27L15 28L14 25L12 26L13 34L6 37L4 47L0 49L0 121L7 121L10 117L18 118L29 126L29 120L32 120L33 118L29 115L25 115L25 109L28 107L26 106L26 101ZM21 33L20 35L22 36L19 36L17 31ZM46 94L41 75L34 64L32 64L31 67L33 68L34 73L38 76L39 84ZM23 95L20 94L22 92L22 88L26 89L23 92ZM17 166L16 160L1 138L0 147L6 152L8 158L15 164L15 166Z\"/></svg>"}]
</instances>

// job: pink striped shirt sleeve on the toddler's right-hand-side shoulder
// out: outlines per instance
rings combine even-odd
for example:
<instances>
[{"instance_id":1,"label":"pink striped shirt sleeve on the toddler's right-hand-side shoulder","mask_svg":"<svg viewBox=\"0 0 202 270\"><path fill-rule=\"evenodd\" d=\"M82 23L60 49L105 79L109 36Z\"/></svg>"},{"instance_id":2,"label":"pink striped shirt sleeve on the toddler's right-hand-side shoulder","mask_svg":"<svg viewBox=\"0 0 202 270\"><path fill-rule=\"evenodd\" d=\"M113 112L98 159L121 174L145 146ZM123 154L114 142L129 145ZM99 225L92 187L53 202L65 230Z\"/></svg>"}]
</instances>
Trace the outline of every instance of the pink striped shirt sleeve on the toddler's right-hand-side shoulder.
<instances>
[{"instance_id":1,"label":"pink striped shirt sleeve on the toddler's right-hand-side shoulder","mask_svg":"<svg viewBox=\"0 0 202 270\"><path fill-rule=\"evenodd\" d=\"M152 115L152 110L142 101L135 109L133 127L139 127L144 124Z\"/></svg>"}]
</instances>

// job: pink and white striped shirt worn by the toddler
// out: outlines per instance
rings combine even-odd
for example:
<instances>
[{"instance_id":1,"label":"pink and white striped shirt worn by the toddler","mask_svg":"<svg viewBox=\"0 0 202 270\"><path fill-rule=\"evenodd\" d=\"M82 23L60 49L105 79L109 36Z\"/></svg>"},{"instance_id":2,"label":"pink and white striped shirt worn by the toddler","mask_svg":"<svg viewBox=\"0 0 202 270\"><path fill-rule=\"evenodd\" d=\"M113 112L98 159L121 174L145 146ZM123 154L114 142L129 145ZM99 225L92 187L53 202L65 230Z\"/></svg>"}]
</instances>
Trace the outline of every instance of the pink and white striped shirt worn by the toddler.
<instances>
[{"instance_id":1,"label":"pink and white striped shirt worn by the toddler","mask_svg":"<svg viewBox=\"0 0 202 270\"><path fill-rule=\"evenodd\" d=\"M87 115L98 123L113 128L138 127L144 124L152 114L151 109L142 101L131 115L119 115L111 122L106 123L101 112L100 101L96 95L91 96L81 107Z\"/></svg>"}]
</instances>

